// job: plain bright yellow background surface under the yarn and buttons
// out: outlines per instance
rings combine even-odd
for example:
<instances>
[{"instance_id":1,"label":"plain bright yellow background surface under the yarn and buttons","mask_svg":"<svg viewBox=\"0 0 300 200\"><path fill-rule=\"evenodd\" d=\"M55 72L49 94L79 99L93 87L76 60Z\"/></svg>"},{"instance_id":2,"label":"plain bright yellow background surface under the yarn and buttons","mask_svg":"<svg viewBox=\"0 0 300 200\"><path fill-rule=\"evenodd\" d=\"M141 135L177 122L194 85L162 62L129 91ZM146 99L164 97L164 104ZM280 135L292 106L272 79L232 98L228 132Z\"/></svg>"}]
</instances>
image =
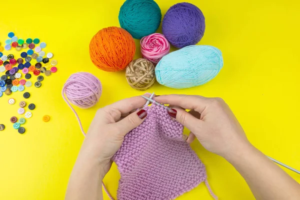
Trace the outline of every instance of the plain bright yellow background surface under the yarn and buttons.
<instances>
[{"instance_id":1,"label":"plain bright yellow background surface under the yarn and buttons","mask_svg":"<svg viewBox=\"0 0 300 200\"><path fill-rule=\"evenodd\" d=\"M187 1L197 5L205 16L206 29L199 44L218 47L223 53L224 66L213 80L202 86L172 89L156 82L147 91L222 97L257 148L300 169L299 1ZM156 2L164 14L180 0ZM127 84L124 71L101 71L89 59L91 37L103 27L119 26L117 17L123 0L3 3L1 45L4 46L9 31L24 39L38 37L47 43L45 51L51 51L58 60L58 71L45 77L40 88L26 88L31 93L26 102L35 103L36 108L24 124L25 134L17 133L9 122L13 115L20 117L17 108L23 92L9 96L16 99L14 105L7 103L5 94L0 97L0 123L6 126L0 131L0 199L63 199L83 140L74 114L61 98L67 77L88 71L102 82L103 93L96 106L75 108L85 130L97 108L144 93ZM135 58L138 58L139 40L135 41ZM33 83L35 78L31 78ZM41 120L44 114L50 115L49 122ZM208 181L220 199L254 199L243 178L228 162L205 150L198 141L191 146L205 164ZM300 182L299 174L288 170L287 173ZM104 182L114 197L118 178L113 165ZM104 199L108 199L106 194ZM178 199L212 197L201 183Z\"/></svg>"}]
</instances>

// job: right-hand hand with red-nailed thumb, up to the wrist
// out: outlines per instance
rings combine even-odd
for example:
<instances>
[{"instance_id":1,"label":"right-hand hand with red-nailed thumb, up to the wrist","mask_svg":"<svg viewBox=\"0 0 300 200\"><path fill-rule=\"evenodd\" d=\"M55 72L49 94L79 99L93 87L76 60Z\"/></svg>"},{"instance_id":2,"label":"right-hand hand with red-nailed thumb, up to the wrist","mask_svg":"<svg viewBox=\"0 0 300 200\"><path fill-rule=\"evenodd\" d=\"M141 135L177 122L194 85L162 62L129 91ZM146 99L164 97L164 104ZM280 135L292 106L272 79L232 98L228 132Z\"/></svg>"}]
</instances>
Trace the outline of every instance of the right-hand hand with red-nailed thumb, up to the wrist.
<instances>
[{"instance_id":1,"label":"right-hand hand with red-nailed thumb, up to the wrist","mask_svg":"<svg viewBox=\"0 0 300 200\"><path fill-rule=\"evenodd\" d=\"M221 98L170 94L156 96L155 100L173 107L168 113L190 130L186 140L189 143L196 136L204 148L226 159L250 146L241 125Z\"/></svg>"}]
</instances>

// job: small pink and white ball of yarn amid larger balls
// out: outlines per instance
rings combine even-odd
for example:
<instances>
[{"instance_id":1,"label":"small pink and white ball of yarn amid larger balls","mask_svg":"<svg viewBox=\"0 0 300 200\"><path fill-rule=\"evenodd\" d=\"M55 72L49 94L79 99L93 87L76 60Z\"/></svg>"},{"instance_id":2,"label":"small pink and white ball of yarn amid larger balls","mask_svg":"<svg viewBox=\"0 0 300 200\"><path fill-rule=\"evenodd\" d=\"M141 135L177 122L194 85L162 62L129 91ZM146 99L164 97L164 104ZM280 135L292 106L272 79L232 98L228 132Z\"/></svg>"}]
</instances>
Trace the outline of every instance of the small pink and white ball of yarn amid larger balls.
<instances>
[{"instance_id":1,"label":"small pink and white ball of yarn amid larger balls","mask_svg":"<svg viewBox=\"0 0 300 200\"><path fill-rule=\"evenodd\" d=\"M157 63L162 56L170 52L170 44L163 34L153 33L141 38L140 51L143 58Z\"/></svg>"}]
</instances>

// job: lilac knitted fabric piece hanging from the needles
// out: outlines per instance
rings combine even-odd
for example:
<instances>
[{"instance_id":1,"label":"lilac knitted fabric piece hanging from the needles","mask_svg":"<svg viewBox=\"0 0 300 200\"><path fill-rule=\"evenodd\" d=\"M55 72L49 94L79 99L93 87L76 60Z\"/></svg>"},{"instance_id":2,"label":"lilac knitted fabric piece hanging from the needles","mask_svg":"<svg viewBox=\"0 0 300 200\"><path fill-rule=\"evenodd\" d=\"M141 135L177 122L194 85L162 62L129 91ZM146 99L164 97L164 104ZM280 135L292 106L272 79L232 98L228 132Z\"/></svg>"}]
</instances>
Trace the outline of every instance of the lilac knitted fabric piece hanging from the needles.
<instances>
[{"instance_id":1,"label":"lilac knitted fabric piece hanging from the needles","mask_svg":"<svg viewBox=\"0 0 300 200\"><path fill-rule=\"evenodd\" d=\"M121 175L117 199L174 199L202 181L206 184L205 166L183 140L183 126L163 107L144 109L146 119L126 134L112 157Z\"/></svg>"}]
</instances>

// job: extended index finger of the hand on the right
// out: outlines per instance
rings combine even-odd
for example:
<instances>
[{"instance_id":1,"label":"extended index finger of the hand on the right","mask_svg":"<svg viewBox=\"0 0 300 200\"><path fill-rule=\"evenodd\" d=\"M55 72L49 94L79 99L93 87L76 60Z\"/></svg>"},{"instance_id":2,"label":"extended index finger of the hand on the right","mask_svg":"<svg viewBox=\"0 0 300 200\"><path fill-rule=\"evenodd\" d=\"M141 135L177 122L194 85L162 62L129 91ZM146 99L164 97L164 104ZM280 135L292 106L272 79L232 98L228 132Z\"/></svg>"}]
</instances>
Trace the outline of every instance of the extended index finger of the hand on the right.
<instances>
[{"instance_id":1,"label":"extended index finger of the hand on the right","mask_svg":"<svg viewBox=\"0 0 300 200\"><path fill-rule=\"evenodd\" d=\"M169 94L154 97L157 102L181 106L184 109L194 109L201 113L207 105L208 98L196 95Z\"/></svg>"}]
</instances>

